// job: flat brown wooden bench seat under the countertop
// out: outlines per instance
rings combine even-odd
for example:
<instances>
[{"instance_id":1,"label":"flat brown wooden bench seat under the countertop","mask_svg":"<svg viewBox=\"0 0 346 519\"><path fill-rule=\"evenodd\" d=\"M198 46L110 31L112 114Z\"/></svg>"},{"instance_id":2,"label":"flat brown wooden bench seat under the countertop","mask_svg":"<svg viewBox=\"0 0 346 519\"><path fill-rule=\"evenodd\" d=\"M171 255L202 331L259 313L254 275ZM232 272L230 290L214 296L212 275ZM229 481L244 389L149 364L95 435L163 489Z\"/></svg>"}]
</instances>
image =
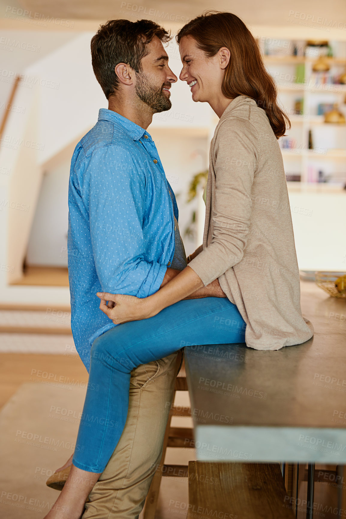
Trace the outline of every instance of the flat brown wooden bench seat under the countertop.
<instances>
[{"instance_id":1,"label":"flat brown wooden bench seat under the countertop","mask_svg":"<svg viewBox=\"0 0 346 519\"><path fill-rule=\"evenodd\" d=\"M295 517L279 463L190 461L188 477L187 519Z\"/></svg>"}]
</instances>

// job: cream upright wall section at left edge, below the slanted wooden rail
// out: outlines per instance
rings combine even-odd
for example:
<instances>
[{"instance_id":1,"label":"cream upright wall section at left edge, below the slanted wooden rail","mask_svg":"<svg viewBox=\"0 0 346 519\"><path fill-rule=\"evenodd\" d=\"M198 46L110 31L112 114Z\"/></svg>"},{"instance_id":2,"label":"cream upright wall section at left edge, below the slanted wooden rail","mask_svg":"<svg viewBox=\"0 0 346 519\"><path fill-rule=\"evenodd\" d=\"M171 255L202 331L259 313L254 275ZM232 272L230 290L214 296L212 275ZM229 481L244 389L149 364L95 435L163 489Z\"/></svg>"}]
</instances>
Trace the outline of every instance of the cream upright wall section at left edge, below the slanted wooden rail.
<instances>
[{"instance_id":1,"label":"cream upright wall section at left edge, below the slanted wooden rail","mask_svg":"<svg viewBox=\"0 0 346 519\"><path fill-rule=\"evenodd\" d=\"M37 88L19 88L14 102L26 106L25 114L11 113L1 142L0 240L8 280L21 277L41 179L37 156Z\"/></svg>"}]
</instances>

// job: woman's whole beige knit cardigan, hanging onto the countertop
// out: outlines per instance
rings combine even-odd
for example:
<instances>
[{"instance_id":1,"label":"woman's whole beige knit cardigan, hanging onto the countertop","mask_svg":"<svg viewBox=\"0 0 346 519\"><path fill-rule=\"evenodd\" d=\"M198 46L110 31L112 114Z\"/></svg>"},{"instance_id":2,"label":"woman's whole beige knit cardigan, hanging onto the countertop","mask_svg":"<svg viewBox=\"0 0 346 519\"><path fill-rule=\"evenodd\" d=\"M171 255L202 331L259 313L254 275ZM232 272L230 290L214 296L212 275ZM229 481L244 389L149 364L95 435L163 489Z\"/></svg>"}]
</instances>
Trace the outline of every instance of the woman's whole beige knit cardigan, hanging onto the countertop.
<instances>
[{"instance_id":1,"label":"woman's whole beige knit cardigan, hanging onto the countertop","mask_svg":"<svg viewBox=\"0 0 346 519\"><path fill-rule=\"evenodd\" d=\"M240 95L210 147L203 250L189 266L218 278L246 322L246 345L300 344L313 326L300 308L299 271L282 155L267 115Z\"/></svg>"}]
</instances>

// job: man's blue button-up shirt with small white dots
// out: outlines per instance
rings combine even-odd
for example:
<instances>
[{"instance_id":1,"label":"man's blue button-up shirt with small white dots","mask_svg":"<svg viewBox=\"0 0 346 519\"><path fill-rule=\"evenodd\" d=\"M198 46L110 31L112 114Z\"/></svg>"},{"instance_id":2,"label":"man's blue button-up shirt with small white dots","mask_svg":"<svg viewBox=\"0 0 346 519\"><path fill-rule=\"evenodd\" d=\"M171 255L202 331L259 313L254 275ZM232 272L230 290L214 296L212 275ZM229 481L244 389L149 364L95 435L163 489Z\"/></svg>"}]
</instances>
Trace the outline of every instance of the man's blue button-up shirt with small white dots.
<instances>
[{"instance_id":1,"label":"man's blue button-up shirt with small white dots","mask_svg":"<svg viewBox=\"0 0 346 519\"><path fill-rule=\"evenodd\" d=\"M174 255L178 209L153 139L101 108L73 153L68 189L68 279L74 342L87 370L92 341L115 326L96 292L147 297Z\"/></svg>"}]
</instances>

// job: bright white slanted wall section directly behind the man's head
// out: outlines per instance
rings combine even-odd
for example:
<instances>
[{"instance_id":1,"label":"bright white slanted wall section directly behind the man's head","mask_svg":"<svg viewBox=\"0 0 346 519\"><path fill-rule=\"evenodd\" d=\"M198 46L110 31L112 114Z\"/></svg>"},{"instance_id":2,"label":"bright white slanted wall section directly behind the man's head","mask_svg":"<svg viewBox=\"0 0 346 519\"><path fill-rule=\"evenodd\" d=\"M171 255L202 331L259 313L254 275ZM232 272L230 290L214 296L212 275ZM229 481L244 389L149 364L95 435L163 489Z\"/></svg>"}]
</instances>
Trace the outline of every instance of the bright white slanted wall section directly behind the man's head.
<instances>
[{"instance_id":1,"label":"bright white slanted wall section directly behind the man's head","mask_svg":"<svg viewBox=\"0 0 346 519\"><path fill-rule=\"evenodd\" d=\"M40 163L86 133L97 122L99 108L108 106L91 66L92 36L78 35L26 70L58 85L40 87L39 139L44 144Z\"/></svg>"}]
</instances>

